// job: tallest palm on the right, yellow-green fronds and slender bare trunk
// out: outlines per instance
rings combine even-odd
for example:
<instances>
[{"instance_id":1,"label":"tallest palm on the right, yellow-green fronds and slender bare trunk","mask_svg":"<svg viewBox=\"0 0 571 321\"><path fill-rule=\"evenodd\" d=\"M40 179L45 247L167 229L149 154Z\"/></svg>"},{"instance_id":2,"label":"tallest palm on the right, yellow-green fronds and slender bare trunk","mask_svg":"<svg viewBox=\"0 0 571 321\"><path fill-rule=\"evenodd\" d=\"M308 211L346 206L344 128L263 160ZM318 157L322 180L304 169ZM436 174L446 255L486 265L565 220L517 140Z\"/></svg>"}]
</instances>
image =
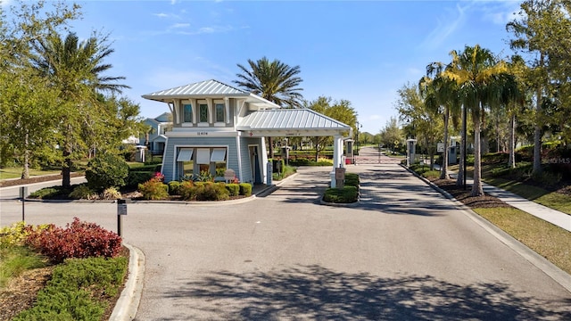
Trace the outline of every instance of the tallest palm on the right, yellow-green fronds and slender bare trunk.
<instances>
[{"instance_id":1,"label":"tallest palm on the right, yellow-green fronds and slender bare trunk","mask_svg":"<svg viewBox=\"0 0 571 321\"><path fill-rule=\"evenodd\" d=\"M494 77L507 71L505 62L497 62L492 53L481 48L466 46L462 53L451 52L451 68L444 70L443 76L456 81L466 93L464 108L471 111L474 126L474 185L470 196L484 195L482 185L481 125L484 120L484 107Z\"/></svg>"}]
</instances>

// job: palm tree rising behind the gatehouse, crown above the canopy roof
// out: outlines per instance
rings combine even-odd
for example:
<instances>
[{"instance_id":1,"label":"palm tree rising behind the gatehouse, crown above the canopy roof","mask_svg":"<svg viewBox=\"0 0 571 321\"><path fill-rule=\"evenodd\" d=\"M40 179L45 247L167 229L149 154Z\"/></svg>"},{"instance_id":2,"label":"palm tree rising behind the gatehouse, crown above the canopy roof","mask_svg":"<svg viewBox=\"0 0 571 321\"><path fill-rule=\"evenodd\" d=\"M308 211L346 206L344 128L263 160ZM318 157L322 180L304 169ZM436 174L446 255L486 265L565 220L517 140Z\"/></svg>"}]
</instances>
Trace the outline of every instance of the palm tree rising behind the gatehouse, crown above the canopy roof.
<instances>
[{"instance_id":1,"label":"palm tree rising behind the gatehouse, crown above the canopy roof","mask_svg":"<svg viewBox=\"0 0 571 321\"><path fill-rule=\"evenodd\" d=\"M234 83L250 91L254 95L283 107L298 108L302 106L303 89L299 86L302 78L297 75L301 72L300 66L290 67L284 62L262 57L254 62L248 59L250 68L237 64L242 73L236 74L238 80ZM274 148L271 137L268 138L269 158L274 157Z\"/></svg>"}]
</instances>

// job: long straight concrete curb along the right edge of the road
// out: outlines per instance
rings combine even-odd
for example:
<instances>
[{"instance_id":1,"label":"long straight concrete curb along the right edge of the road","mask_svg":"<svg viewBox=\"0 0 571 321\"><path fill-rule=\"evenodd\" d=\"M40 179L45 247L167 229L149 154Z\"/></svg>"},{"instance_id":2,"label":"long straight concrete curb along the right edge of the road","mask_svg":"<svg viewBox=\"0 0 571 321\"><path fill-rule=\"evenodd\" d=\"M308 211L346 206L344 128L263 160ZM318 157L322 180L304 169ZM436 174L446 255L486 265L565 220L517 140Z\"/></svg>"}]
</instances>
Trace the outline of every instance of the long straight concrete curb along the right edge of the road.
<instances>
[{"instance_id":1,"label":"long straight concrete curb along the right edge of the road","mask_svg":"<svg viewBox=\"0 0 571 321\"><path fill-rule=\"evenodd\" d=\"M442 193L444 197L454 202L456 206L458 206L459 210L463 210L463 213L466 214L468 218L472 219L477 225L484 228L484 230L500 240L501 243L506 244L509 249L517 252L517 254L521 255L524 259L533 264L535 268L542 270L543 273L545 273L547 276L550 276L551 279L553 279L559 285L563 286L568 292L571 292L571 275L569 275L567 272L558 268L548 259L543 258L537 252L527 247L524 243L517 241L516 238L504 232L500 227L493 225L489 220L482 218L474 210L470 209L464 203L456 200L450 193L444 191L437 185L434 185L425 177L418 175L415 171L410 170L405 166L402 167L407 169L415 177L418 177L420 180L424 181L426 185L431 186L436 192Z\"/></svg>"}]
</instances>

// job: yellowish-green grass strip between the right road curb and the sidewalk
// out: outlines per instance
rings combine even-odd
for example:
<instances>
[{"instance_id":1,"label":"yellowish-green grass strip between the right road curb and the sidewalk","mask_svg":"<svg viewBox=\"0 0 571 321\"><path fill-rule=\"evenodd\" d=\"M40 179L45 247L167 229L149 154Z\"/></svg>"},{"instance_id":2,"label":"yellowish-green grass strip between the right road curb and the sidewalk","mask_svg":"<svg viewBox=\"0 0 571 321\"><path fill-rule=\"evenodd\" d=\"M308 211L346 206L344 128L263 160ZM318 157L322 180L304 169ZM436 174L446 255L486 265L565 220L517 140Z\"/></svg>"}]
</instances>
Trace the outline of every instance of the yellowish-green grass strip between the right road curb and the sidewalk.
<instances>
[{"instance_id":1,"label":"yellowish-green grass strip between the right road curb and the sidewalk","mask_svg":"<svg viewBox=\"0 0 571 321\"><path fill-rule=\"evenodd\" d=\"M472 210L571 274L571 232L514 208Z\"/></svg>"}]
</instances>

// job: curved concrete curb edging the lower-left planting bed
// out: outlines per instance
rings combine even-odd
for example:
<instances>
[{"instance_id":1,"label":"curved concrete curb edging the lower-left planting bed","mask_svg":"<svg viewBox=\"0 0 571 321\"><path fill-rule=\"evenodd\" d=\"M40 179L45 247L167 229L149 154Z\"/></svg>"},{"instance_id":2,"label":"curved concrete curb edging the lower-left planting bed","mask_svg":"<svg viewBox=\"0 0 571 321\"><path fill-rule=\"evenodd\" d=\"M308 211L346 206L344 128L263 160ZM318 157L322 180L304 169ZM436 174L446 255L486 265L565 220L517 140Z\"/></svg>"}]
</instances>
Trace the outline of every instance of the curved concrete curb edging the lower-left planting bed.
<instances>
[{"instance_id":1,"label":"curved concrete curb edging the lower-left planting bed","mask_svg":"<svg viewBox=\"0 0 571 321\"><path fill-rule=\"evenodd\" d=\"M129 251L128 279L115 304L110 321L130 321L137 315L145 279L145 254L136 247L123 243Z\"/></svg>"}]
</instances>

